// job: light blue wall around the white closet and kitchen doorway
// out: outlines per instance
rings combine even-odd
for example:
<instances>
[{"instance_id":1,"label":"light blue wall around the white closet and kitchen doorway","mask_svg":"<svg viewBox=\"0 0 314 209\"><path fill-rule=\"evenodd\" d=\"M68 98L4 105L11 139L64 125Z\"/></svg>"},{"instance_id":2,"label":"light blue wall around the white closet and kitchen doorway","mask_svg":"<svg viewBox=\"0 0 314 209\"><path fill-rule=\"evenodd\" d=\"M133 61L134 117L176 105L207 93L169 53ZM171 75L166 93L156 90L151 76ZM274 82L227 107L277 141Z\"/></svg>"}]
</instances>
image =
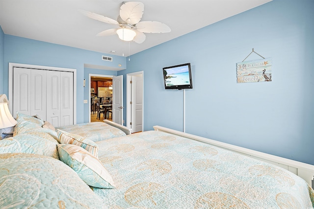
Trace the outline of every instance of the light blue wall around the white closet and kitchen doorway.
<instances>
[{"instance_id":1,"label":"light blue wall around the white closet and kitchen doorway","mask_svg":"<svg viewBox=\"0 0 314 209\"><path fill-rule=\"evenodd\" d=\"M40 66L52 66L60 68L77 69L77 123L88 122L88 105L83 104L84 99L89 99L87 88L83 87L83 79L88 81L88 72L91 69L84 70L84 64L97 66L106 66L121 69L126 68L125 57L111 55L112 62L102 61L100 52L89 51L69 46L40 42L31 39L4 35L4 73L0 78L3 83L3 93L8 94L8 63L23 63ZM94 70L97 74L116 74L116 71ZM87 74L87 76L86 76ZM10 98L9 98L10 99Z\"/></svg>"}]
</instances>

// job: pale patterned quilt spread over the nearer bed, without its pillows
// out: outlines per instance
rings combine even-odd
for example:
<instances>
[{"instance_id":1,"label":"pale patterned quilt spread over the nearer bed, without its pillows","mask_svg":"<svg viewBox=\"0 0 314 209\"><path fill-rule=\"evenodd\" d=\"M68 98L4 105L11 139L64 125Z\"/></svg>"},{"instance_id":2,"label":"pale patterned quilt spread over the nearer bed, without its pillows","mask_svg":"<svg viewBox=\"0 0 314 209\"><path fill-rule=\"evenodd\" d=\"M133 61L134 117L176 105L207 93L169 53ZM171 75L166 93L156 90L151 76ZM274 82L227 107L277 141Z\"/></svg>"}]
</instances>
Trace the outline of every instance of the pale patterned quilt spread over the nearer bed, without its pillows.
<instances>
[{"instance_id":1,"label":"pale patterned quilt spread over the nearer bed, without its pillows","mask_svg":"<svg viewBox=\"0 0 314 209\"><path fill-rule=\"evenodd\" d=\"M161 128L161 127L159 127ZM162 131L97 142L109 208L312 208L312 188L279 166Z\"/></svg>"}]
</instances>

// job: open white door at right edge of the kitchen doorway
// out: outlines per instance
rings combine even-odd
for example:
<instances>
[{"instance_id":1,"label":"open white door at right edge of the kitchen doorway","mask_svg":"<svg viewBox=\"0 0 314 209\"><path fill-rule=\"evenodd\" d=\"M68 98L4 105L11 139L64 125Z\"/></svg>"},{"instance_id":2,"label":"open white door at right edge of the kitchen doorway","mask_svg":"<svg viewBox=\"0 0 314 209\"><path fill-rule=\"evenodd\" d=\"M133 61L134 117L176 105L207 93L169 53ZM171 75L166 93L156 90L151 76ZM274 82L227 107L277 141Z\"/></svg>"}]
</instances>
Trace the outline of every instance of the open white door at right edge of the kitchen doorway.
<instances>
[{"instance_id":1,"label":"open white door at right edge of the kitchen doorway","mask_svg":"<svg viewBox=\"0 0 314 209\"><path fill-rule=\"evenodd\" d=\"M123 125L123 75L112 78L112 121Z\"/></svg>"}]
</instances>

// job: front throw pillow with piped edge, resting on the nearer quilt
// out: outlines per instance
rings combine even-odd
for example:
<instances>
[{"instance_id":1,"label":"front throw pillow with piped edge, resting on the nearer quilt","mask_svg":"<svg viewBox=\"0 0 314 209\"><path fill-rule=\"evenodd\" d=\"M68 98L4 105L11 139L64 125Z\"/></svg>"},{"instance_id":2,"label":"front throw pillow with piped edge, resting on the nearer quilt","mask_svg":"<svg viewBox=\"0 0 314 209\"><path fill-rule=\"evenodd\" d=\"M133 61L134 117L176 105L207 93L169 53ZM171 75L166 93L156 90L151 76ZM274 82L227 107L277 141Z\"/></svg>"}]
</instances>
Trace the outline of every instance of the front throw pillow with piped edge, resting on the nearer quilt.
<instances>
[{"instance_id":1,"label":"front throw pillow with piped edge, resting on the nearer quilt","mask_svg":"<svg viewBox=\"0 0 314 209\"><path fill-rule=\"evenodd\" d=\"M111 175L96 157L73 144L57 144L59 158L77 172L89 186L115 188Z\"/></svg>"}]
</instances>

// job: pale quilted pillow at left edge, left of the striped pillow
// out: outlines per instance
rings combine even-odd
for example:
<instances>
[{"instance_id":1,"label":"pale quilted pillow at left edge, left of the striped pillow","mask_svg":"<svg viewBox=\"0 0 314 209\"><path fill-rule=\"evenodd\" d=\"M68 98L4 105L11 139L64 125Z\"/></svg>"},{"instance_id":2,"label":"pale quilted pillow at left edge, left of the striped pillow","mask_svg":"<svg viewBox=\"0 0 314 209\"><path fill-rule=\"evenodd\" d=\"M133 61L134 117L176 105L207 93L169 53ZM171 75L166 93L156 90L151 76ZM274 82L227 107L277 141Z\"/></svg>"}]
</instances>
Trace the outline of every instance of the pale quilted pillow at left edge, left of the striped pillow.
<instances>
[{"instance_id":1,"label":"pale quilted pillow at left edge, left of the striped pillow","mask_svg":"<svg viewBox=\"0 0 314 209\"><path fill-rule=\"evenodd\" d=\"M33 129L11 138L0 140L0 153L33 153L59 159L55 131Z\"/></svg>"}]
</instances>

